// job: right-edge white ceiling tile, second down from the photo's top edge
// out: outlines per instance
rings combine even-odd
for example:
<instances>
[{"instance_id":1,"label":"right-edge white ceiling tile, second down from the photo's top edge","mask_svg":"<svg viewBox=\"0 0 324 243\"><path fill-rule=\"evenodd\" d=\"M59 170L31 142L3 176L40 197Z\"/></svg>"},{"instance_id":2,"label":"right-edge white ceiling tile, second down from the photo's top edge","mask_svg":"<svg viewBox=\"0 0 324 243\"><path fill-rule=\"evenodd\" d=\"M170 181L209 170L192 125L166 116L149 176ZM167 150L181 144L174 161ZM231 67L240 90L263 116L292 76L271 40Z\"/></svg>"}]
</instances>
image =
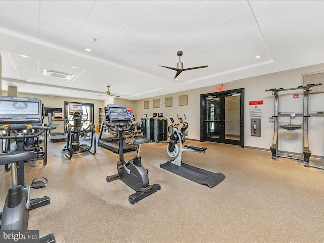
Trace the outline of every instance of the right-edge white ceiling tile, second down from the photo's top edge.
<instances>
[{"instance_id":1,"label":"right-edge white ceiling tile, second down from the photo's top edge","mask_svg":"<svg viewBox=\"0 0 324 243\"><path fill-rule=\"evenodd\" d=\"M258 26L258 24L250 8L217 25L217 27L227 38L230 38L236 34L239 34L256 26Z\"/></svg>"}]
</instances>

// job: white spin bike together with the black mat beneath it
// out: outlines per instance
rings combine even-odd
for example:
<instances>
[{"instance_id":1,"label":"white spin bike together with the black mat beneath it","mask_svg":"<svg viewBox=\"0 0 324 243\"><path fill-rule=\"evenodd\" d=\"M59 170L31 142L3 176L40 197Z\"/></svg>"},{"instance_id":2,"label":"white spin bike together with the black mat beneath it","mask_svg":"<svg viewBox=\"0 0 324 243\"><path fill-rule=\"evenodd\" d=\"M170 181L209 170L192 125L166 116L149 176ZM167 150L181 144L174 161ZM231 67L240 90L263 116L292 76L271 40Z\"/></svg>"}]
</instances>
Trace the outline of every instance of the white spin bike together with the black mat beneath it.
<instances>
[{"instance_id":1,"label":"white spin bike together with the black mat beneath it","mask_svg":"<svg viewBox=\"0 0 324 243\"><path fill-rule=\"evenodd\" d=\"M179 116L178 116L179 118ZM172 123L174 122L173 118L170 118ZM225 176L222 173L214 173L206 171L185 163L182 163L182 154L184 152L198 152L205 153L206 147L197 147L191 145L184 145L184 134L188 128L187 120L182 121L182 118L179 118L179 124L174 124L173 133L170 136L170 140L167 145L167 153L170 157L175 158L174 160L167 161L166 163L160 164L160 167L170 171L176 175L182 176L188 180L194 181L199 184L206 185L210 188L221 183ZM178 146L179 142L179 146Z\"/></svg>"}]
</instances>

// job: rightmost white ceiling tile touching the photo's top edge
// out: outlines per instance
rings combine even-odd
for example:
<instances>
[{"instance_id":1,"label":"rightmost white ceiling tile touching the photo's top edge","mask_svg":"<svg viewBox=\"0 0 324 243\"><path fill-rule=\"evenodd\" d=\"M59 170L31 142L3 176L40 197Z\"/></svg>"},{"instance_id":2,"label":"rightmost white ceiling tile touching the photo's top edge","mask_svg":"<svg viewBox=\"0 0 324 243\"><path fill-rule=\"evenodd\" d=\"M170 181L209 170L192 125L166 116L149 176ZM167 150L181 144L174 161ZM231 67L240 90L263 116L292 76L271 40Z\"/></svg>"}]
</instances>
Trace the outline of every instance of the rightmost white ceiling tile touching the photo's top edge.
<instances>
[{"instance_id":1,"label":"rightmost white ceiling tile touching the photo's top edge","mask_svg":"<svg viewBox=\"0 0 324 243\"><path fill-rule=\"evenodd\" d=\"M199 6L217 25L220 22L250 8L247 0L237 1L205 1Z\"/></svg>"}]
</instances>

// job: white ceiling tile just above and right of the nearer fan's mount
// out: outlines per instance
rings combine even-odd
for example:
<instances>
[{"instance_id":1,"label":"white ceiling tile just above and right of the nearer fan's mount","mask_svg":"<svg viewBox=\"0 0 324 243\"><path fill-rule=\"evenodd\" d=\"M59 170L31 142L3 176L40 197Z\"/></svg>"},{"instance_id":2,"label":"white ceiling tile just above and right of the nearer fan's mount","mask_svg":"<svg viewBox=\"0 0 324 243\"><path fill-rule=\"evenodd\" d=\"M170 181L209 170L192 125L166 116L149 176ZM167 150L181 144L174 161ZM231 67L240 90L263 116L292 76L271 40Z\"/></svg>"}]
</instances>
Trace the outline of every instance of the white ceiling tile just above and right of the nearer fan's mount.
<instances>
[{"instance_id":1,"label":"white ceiling tile just above and right of the nearer fan's mount","mask_svg":"<svg viewBox=\"0 0 324 243\"><path fill-rule=\"evenodd\" d=\"M216 26L213 26L192 37L190 40L204 49L225 39L225 35Z\"/></svg>"}]
</instances>

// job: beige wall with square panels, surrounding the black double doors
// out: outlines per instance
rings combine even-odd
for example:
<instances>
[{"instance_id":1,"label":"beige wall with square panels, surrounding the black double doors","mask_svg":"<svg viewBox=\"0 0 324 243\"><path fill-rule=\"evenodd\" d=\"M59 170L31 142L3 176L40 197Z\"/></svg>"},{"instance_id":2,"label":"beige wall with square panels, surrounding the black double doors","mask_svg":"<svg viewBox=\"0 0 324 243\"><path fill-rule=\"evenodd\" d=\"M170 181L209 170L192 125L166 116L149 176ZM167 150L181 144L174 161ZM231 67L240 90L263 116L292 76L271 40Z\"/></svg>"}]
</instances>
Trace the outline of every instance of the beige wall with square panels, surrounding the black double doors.
<instances>
[{"instance_id":1,"label":"beige wall with square panels, surrounding the black double doors","mask_svg":"<svg viewBox=\"0 0 324 243\"><path fill-rule=\"evenodd\" d=\"M224 83L223 90L245 89L245 136L244 144L249 147L269 149L272 145L274 123L269 122L269 117L274 115L274 96L271 92L265 92L272 88L292 88L302 85L301 75L312 72L324 71L324 64L293 69L284 72L272 73L242 80ZM324 83L324 80L323 82ZM177 114L183 117L185 114L189 123L188 137L200 140L200 95L216 92L216 85L194 90L172 93L163 96L151 97L135 101L135 112L141 117L144 114L152 116L153 113L163 112L166 117L177 118ZM293 99L293 94L299 94L298 99ZM179 106L179 95L188 94L188 105ZM172 107L164 107L166 97L173 98ZM153 100L160 99L160 108L153 108ZM249 101L263 100L263 117L261 118L261 137L250 135ZM309 95L309 111L324 111L324 94ZM150 108L144 109L144 101L150 102ZM303 111L303 91L295 90L282 92L279 95L279 111ZM296 117L296 119L301 117ZM285 120L286 121L286 120ZM289 121L289 120L288 120ZM296 120L302 122L302 120ZM170 120L168 120L170 123ZM309 118L308 136L309 147L313 155L324 156L324 116ZM279 150L301 153L302 129L288 131L279 130Z\"/></svg>"}]
</instances>

